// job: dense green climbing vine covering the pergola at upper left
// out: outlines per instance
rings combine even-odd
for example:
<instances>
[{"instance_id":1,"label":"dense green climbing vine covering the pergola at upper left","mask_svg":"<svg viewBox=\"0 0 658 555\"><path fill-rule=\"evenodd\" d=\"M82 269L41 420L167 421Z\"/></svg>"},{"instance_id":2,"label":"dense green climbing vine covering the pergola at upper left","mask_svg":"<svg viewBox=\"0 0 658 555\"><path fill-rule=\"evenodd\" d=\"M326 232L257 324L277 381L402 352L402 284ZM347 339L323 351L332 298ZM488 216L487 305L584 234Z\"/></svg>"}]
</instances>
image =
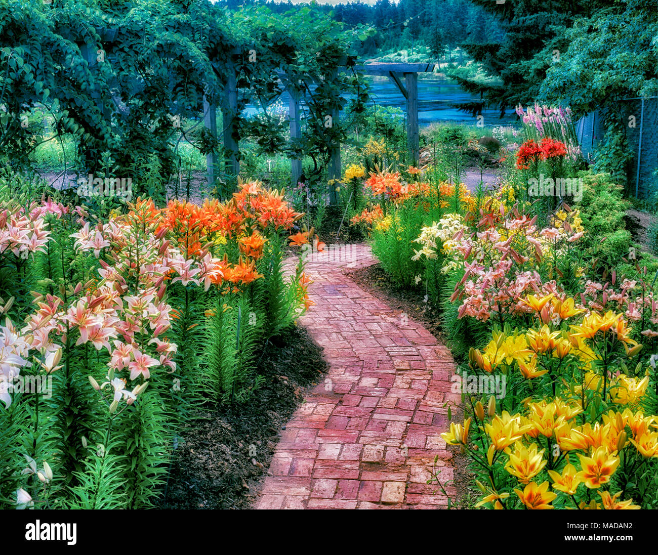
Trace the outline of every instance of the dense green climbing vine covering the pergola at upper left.
<instances>
[{"instance_id":1,"label":"dense green climbing vine covering the pergola at upper left","mask_svg":"<svg viewBox=\"0 0 658 555\"><path fill-rule=\"evenodd\" d=\"M367 101L349 54L369 34L317 20L311 9L274 18L265 8L247 15L208 0L7 0L0 12L0 162L30 166L39 144L69 134L77 159L66 160L64 171L130 177L134 194L162 198L180 137L203 154L231 154L220 148L221 128L218 137L191 133L205 98L229 112L236 141L253 137L263 152L309 156L320 172ZM238 93L232 111L225 100L231 72ZM267 107L285 89L302 100L305 125L294 140L280 122L243 115L247 103ZM337 110L340 120L332 116Z\"/></svg>"}]
</instances>

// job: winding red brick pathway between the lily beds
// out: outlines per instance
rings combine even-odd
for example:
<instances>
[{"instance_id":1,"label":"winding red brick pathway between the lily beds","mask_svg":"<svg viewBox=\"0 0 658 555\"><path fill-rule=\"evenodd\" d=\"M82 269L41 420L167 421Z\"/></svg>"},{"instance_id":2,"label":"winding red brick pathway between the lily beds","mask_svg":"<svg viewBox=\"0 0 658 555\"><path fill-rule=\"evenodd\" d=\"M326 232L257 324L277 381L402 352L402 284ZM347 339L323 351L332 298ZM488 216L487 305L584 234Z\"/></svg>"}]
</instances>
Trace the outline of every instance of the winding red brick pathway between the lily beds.
<instances>
[{"instance_id":1,"label":"winding red brick pathway between the lily beds","mask_svg":"<svg viewBox=\"0 0 658 555\"><path fill-rule=\"evenodd\" d=\"M300 319L330 364L293 415L256 508L445 508L428 485L434 456L452 479L446 431L451 354L400 311L363 291L343 270L376 260L352 245L354 262L323 253L307 262L316 305ZM447 487L454 495L453 487Z\"/></svg>"}]
</instances>

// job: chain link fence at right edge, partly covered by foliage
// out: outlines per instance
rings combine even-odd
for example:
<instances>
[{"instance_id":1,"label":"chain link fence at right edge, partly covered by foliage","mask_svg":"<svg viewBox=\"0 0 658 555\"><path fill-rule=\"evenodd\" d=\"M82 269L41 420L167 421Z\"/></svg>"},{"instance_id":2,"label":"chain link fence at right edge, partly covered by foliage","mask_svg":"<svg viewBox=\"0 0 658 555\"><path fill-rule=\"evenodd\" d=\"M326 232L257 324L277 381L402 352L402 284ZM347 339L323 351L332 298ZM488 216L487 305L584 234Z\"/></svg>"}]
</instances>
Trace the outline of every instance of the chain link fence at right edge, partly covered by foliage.
<instances>
[{"instance_id":1,"label":"chain link fence at right edge, partly covered by foliage","mask_svg":"<svg viewBox=\"0 0 658 555\"><path fill-rule=\"evenodd\" d=\"M627 168L628 192L638 199L651 199L658 192L658 176L654 175L658 168L658 97L623 99L615 115L625 123L626 140L633 154ZM605 121L600 112L578 120L576 136L588 162L593 161L604 135Z\"/></svg>"}]
</instances>

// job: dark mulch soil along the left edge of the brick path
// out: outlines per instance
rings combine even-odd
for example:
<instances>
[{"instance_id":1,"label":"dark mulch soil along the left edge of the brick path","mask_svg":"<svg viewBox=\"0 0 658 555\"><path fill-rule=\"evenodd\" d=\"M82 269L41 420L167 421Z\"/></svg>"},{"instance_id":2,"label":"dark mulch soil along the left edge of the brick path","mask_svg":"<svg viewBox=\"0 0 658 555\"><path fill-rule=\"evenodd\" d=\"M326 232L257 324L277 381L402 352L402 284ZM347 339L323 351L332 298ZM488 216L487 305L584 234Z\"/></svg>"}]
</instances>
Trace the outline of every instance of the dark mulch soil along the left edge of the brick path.
<instances>
[{"instance_id":1,"label":"dark mulch soil along the left edge of the brick path","mask_svg":"<svg viewBox=\"0 0 658 555\"><path fill-rule=\"evenodd\" d=\"M295 328L261 357L265 385L244 404L190 419L174 450L163 509L251 508L279 440L305 389L326 373L319 347Z\"/></svg>"}]
</instances>

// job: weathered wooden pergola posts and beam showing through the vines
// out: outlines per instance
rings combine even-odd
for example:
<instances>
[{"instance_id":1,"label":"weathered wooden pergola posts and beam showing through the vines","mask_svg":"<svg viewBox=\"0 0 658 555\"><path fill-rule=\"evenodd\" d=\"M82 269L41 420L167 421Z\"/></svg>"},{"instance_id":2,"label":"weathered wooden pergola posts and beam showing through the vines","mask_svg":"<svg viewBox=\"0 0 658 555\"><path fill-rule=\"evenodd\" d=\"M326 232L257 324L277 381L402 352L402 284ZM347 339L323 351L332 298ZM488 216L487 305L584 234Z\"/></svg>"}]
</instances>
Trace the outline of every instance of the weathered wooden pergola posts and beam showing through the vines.
<instances>
[{"instance_id":1,"label":"weathered wooden pergola posts and beam showing through the vines","mask_svg":"<svg viewBox=\"0 0 658 555\"><path fill-rule=\"evenodd\" d=\"M338 71L345 71L347 66L354 66L353 60L342 60L336 69L325 76L325 79L336 78ZM407 63L372 63L355 66L355 70L365 75L384 76L390 78L407 101L407 143L409 155L414 165L418 164L420 156L419 128L418 128L418 73L432 72L434 64L407 64ZM235 117L238 113L238 90L236 87L236 72L233 66L226 74L225 95L222 103L222 127L224 150L228 153L226 170L237 175L240 172L238 160L238 141L236 140ZM288 87L290 94L290 137L301 137L300 103L301 97L295 87ZM204 100L204 123L213 137L217 136L216 107ZM332 121L338 122L340 110L338 103L328 114ZM301 159L291 158L291 185L297 186L301 176ZM218 154L207 155L208 183L215 183L218 168ZM338 180L341 177L340 143L332 145L328 166L329 179ZM330 202L335 204L336 191L330 191Z\"/></svg>"}]
</instances>

